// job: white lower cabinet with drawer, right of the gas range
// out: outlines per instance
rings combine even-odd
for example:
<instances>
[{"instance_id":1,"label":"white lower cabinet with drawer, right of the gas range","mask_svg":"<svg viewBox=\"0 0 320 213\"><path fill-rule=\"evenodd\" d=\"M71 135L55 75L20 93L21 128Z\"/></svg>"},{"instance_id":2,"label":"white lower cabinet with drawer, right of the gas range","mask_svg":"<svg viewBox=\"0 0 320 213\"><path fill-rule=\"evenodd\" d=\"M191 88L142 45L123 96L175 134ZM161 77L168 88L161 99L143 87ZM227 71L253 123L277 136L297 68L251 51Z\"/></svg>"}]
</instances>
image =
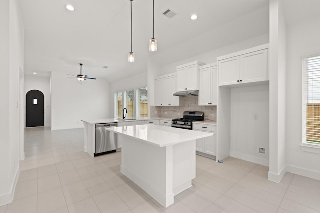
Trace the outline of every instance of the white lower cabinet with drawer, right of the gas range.
<instances>
[{"instance_id":1,"label":"white lower cabinet with drawer, right of the gas range","mask_svg":"<svg viewBox=\"0 0 320 213\"><path fill-rule=\"evenodd\" d=\"M193 130L202 132L212 132L213 136L200 138L196 140L195 150L197 152L216 156L216 125L192 123Z\"/></svg>"}]
</instances>

